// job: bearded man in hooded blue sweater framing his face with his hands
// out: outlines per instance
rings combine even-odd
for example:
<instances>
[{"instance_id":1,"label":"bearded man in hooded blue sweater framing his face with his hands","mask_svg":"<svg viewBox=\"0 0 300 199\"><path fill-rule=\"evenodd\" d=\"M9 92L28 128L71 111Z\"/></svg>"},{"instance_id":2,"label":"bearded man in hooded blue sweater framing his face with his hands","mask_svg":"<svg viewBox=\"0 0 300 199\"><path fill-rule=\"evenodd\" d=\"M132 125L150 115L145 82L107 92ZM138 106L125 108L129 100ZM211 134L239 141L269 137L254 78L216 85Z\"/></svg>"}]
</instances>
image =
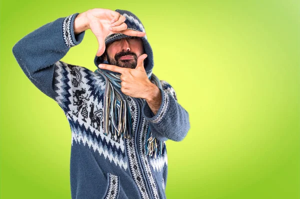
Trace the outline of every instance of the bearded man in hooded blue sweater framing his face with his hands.
<instances>
[{"instance_id":1,"label":"bearded man in hooded blue sweater framing his face with his hands","mask_svg":"<svg viewBox=\"0 0 300 199\"><path fill-rule=\"evenodd\" d=\"M99 43L94 72L60 60L86 29ZM152 73L152 50L133 13L94 8L58 18L12 52L69 121L72 198L165 198L165 141L182 140L189 118L170 84Z\"/></svg>"}]
</instances>

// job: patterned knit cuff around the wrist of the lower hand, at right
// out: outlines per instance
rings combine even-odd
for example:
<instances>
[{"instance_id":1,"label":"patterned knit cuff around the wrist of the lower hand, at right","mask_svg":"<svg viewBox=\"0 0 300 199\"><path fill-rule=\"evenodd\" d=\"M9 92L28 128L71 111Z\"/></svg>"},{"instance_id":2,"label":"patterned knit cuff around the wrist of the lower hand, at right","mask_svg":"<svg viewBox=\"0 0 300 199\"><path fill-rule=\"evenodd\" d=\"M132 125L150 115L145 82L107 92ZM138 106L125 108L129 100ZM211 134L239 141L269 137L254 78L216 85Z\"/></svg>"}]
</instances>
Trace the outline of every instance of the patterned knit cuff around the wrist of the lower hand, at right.
<instances>
[{"instance_id":1,"label":"patterned knit cuff around the wrist of the lower hand, at right","mask_svg":"<svg viewBox=\"0 0 300 199\"><path fill-rule=\"evenodd\" d=\"M159 106L157 113L154 115L147 102L144 102L141 108L141 113L143 117L145 117L145 119L151 123L159 123L163 118L163 116L165 115L165 113L167 112L167 108L169 105L168 93L161 88L159 88L159 90L161 93L161 104Z\"/></svg>"}]
</instances>

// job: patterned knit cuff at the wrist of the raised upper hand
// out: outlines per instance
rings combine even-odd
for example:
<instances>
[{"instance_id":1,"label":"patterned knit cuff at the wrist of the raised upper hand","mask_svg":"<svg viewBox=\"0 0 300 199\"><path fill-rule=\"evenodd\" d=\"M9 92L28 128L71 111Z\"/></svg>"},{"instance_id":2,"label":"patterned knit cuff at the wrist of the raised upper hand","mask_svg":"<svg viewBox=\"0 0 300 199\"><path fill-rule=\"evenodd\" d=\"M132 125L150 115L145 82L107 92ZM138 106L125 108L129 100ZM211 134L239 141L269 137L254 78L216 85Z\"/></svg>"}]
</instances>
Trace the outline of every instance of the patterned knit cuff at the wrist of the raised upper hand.
<instances>
[{"instance_id":1,"label":"patterned knit cuff at the wrist of the raised upper hand","mask_svg":"<svg viewBox=\"0 0 300 199\"><path fill-rule=\"evenodd\" d=\"M62 35L64 44L67 47L72 47L78 45L84 36L85 31L80 32L79 34L74 34L74 20L79 13L71 14L64 18L62 22Z\"/></svg>"}]
</instances>

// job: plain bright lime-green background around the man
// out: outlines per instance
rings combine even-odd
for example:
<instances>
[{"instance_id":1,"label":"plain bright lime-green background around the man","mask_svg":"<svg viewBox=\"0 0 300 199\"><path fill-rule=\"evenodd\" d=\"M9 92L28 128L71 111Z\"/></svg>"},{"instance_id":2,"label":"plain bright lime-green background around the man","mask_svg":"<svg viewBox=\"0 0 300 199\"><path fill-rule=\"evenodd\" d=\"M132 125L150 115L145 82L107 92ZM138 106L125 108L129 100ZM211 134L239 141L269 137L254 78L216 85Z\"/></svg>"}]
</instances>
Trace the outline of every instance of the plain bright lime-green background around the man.
<instances>
[{"instance_id":1,"label":"plain bright lime-green background around the man","mask_svg":"<svg viewBox=\"0 0 300 199\"><path fill-rule=\"evenodd\" d=\"M27 79L12 46L95 7L140 18L153 73L189 113L187 136L166 142L167 198L300 197L298 0L0 3L2 198L70 198L67 119ZM94 70L97 46L86 30L62 60Z\"/></svg>"}]
</instances>

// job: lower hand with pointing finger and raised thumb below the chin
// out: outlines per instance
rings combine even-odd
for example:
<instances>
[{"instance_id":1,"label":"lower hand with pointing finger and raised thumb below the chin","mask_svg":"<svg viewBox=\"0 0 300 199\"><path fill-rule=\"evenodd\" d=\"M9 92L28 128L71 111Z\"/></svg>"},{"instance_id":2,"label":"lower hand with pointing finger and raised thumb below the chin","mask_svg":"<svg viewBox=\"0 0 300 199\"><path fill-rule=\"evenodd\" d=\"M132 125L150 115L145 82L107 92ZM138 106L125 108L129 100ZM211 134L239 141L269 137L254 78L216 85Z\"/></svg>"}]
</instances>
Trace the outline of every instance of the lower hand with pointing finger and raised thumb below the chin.
<instances>
[{"instance_id":1,"label":"lower hand with pointing finger and raised thumb below the chin","mask_svg":"<svg viewBox=\"0 0 300 199\"><path fill-rule=\"evenodd\" d=\"M121 79L121 91L135 98L151 99L155 87L145 71L143 60L147 57L147 54L142 54L137 58L137 65L134 69L119 67L116 65L99 64L99 68L119 72Z\"/></svg>"}]
</instances>

